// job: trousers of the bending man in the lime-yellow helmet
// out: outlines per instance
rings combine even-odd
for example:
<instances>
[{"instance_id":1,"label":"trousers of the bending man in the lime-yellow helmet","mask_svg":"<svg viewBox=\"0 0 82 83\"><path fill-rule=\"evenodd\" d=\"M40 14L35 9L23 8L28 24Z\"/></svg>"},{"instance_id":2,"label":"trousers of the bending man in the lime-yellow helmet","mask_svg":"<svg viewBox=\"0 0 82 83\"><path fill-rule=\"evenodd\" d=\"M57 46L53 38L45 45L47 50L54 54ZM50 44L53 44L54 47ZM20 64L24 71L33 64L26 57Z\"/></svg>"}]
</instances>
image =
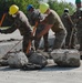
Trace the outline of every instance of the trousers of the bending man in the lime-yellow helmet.
<instances>
[{"instance_id":1,"label":"trousers of the bending man in the lime-yellow helmet","mask_svg":"<svg viewBox=\"0 0 82 83\"><path fill-rule=\"evenodd\" d=\"M64 44L65 37L66 37L65 30L61 30L60 32L55 33L55 40L54 40L53 49L61 49L62 45Z\"/></svg>"}]
</instances>

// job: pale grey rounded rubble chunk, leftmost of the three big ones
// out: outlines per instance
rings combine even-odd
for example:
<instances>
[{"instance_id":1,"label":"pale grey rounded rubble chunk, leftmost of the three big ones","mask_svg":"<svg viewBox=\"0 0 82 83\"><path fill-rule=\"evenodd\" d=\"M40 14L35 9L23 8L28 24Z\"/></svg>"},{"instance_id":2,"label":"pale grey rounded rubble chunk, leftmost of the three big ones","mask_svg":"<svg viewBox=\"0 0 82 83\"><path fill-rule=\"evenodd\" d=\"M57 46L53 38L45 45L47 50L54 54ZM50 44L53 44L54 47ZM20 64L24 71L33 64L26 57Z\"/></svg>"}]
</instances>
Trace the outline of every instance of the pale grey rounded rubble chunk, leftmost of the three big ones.
<instances>
[{"instance_id":1,"label":"pale grey rounded rubble chunk, leftmost of the three big ones","mask_svg":"<svg viewBox=\"0 0 82 83\"><path fill-rule=\"evenodd\" d=\"M9 53L8 63L10 68L22 68L28 63L28 58L23 52Z\"/></svg>"}]
</instances>

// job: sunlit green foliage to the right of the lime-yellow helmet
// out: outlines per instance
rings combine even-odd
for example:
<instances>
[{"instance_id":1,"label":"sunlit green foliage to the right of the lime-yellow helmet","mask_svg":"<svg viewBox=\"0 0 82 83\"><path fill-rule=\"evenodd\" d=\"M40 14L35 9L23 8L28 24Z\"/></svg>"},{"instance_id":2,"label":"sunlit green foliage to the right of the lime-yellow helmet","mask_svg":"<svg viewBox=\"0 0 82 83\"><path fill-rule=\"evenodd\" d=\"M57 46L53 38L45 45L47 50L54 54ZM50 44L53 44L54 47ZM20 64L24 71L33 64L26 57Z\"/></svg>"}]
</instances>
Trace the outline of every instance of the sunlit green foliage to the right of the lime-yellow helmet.
<instances>
[{"instance_id":1,"label":"sunlit green foliage to the right of the lime-yellow helmet","mask_svg":"<svg viewBox=\"0 0 82 83\"><path fill-rule=\"evenodd\" d=\"M61 15L63 13L64 8L69 8L70 10L70 14L72 14L74 12L75 7L72 3L68 3L68 2L58 2L58 0L51 1L49 0L48 2L50 4L50 8L55 10L58 12L59 15Z\"/></svg>"}]
</instances>

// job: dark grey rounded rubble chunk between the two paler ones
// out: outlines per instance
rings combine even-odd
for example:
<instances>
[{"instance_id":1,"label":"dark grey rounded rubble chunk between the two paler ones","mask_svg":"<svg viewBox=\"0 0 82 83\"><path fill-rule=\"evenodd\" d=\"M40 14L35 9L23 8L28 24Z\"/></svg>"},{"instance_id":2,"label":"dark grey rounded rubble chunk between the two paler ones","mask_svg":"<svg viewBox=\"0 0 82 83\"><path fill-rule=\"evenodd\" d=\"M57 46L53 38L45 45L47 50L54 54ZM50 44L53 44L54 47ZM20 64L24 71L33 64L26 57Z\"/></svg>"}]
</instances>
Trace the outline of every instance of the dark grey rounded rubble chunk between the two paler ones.
<instances>
[{"instance_id":1,"label":"dark grey rounded rubble chunk between the two paler ones","mask_svg":"<svg viewBox=\"0 0 82 83\"><path fill-rule=\"evenodd\" d=\"M48 64L48 61L43 56L43 54L38 52L32 53L28 60L29 60L29 63L38 64L41 66L45 66Z\"/></svg>"}]
</instances>

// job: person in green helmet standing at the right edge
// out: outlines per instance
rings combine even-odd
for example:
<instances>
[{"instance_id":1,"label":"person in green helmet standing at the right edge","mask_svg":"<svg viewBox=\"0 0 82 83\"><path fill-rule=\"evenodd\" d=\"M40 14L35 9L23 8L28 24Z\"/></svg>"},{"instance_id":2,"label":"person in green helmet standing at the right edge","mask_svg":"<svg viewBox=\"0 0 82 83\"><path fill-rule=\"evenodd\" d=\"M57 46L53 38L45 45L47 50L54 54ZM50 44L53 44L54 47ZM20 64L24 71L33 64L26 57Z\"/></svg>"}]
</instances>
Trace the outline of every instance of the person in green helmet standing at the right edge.
<instances>
[{"instance_id":1,"label":"person in green helmet standing at the right edge","mask_svg":"<svg viewBox=\"0 0 82 83\"><path fill-rule=\"evenodd\" d=\"M76 11L74 12L74 14L72 15L73 17L73 21L75 22L76 24L76 29L78 29L78 41L79 41L79 44L80 44L80 55L81 55L81 59L82 59L82 2L81 0L76 0L75 1L75 4L76 4Z\"/></svg>"}]
</instances>

